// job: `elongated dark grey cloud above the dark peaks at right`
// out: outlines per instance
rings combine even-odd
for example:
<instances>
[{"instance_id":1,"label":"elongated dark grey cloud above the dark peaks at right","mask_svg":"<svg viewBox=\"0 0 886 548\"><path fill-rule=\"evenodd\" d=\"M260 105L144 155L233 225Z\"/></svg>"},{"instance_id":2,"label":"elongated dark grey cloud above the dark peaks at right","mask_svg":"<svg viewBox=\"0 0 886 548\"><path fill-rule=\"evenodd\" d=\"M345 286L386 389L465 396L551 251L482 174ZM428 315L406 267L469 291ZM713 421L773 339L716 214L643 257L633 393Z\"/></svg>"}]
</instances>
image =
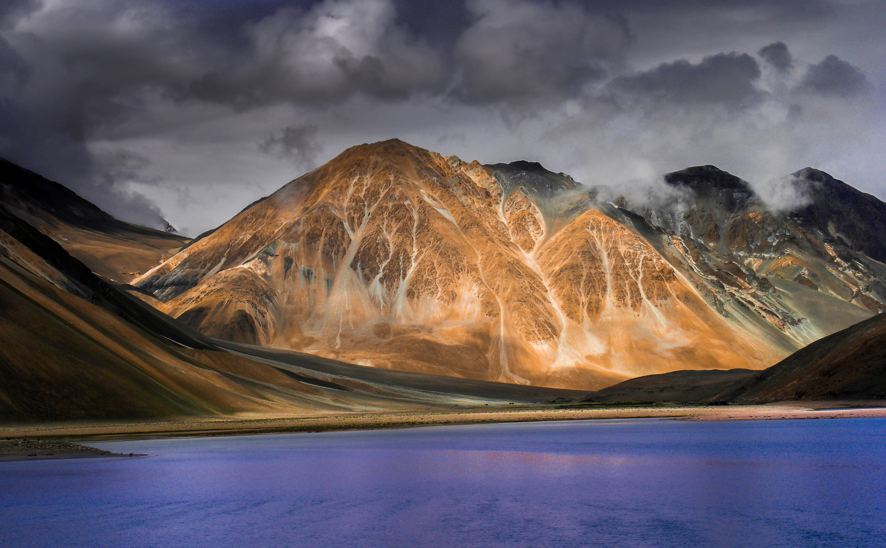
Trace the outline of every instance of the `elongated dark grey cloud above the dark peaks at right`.
<instances>
[{"instance_id":1,"label":"elongated dark grey cloud above the dark peaks at right","mask_svg":"<svg viewBox=\"0 0 886 548\"><path fill-rule=\"evenodd\" d=\"M619 76L611 89L656 105L739 108L758 102L760 91L754 82L759 77L760 67L747 53L718 53L697 64L680 59Z\"/></svg>"}]
</instances>

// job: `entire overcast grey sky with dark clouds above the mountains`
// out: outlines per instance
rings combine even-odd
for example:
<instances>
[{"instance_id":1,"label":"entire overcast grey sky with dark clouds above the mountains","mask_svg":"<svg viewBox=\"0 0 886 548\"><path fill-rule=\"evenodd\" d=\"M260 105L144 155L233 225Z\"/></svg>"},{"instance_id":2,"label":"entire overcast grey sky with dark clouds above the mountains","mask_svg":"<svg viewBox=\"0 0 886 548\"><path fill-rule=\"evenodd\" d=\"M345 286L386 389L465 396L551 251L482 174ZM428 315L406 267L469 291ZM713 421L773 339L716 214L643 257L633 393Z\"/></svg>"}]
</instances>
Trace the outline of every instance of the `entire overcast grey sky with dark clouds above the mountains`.
<instances>
[{"instance_id":1,"label":"entire overcast grey sky with dark clouds above the mountains","mask_svg":"<svg viewBox=\"0 0 886 548\"><path fill-rule=\"evenodd\" d=\"M3 0L0 155L191 236L399 137L641 188L805 166L886 199L883 0Z\"/></svg>"}]
</instances>

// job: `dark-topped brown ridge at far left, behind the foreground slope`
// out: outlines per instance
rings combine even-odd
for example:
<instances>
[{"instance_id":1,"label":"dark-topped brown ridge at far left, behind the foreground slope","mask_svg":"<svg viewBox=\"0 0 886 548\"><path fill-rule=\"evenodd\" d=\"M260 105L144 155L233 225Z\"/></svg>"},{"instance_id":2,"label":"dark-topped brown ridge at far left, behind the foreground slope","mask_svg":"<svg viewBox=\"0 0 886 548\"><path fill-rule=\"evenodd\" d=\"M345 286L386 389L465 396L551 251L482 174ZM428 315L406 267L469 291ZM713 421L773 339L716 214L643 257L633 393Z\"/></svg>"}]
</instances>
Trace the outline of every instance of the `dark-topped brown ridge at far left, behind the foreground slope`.
<instances>
[{"instance_id":1,"label":"dark-topped brown ridge at far left, behind the foreground slope","mask_svg":"<svg viewBox=\"0 0 886 548\"><path fill-rule=\"evenodd\" d=\"M66 186L3 159L0 204L97 274L120 283L168 259L189 241L174 231L115 219Z\"/></svg>"}]
</instances>

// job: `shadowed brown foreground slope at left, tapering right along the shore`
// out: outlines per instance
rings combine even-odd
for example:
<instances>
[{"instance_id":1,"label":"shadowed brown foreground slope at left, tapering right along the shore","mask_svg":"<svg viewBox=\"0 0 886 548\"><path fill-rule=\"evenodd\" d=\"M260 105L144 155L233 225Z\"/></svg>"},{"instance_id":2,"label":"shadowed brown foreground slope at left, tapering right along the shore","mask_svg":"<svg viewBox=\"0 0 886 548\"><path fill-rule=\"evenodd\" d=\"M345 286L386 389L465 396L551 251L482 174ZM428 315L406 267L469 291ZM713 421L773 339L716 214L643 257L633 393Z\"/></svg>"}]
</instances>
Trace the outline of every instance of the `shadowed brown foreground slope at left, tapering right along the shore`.
<instances>
[{"instance_id":1,"label":"shadowed brown foreground slope at left, tapering right along the shore","mask_svg":"<svg viewBox=\"0 0 886 548\"><path fill-rule=\"evenodd\" d=\"M86 212L87 220L108 218L97 208ZM418 373L367 373L316 356L220 344L124 287L98 277L0 204L0 421L306 416L587 397Z\"/></svg>"}]
</instances>

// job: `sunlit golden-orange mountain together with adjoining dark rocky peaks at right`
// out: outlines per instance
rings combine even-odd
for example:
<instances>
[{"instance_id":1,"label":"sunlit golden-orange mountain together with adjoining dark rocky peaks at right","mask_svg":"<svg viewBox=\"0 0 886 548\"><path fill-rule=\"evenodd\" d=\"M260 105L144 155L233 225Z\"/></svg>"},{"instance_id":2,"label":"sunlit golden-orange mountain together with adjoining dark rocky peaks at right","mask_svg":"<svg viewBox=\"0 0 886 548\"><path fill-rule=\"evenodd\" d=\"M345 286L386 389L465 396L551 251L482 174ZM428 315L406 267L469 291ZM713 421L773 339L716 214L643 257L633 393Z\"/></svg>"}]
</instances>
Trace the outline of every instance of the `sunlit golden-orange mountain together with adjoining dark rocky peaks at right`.
<instances>
[{"instance_id":1,"label":"sunlit golden-orange mountain together with adjoining dark rocky peaks at right","mask_svg":"<svg viewBox=\"0 0 886 548\"><path fill-rule=\"evenodd\" d=\"M392 139L348 149L132 283L210 337L391 370L587 390L763 369L886 302L880 240L864 238L882 202L817 174L795 177L810 202L792 212L712 166L631 204L537 163ZM865 209L834 223L827 207Z\"/></svg>"}]
</instances>

